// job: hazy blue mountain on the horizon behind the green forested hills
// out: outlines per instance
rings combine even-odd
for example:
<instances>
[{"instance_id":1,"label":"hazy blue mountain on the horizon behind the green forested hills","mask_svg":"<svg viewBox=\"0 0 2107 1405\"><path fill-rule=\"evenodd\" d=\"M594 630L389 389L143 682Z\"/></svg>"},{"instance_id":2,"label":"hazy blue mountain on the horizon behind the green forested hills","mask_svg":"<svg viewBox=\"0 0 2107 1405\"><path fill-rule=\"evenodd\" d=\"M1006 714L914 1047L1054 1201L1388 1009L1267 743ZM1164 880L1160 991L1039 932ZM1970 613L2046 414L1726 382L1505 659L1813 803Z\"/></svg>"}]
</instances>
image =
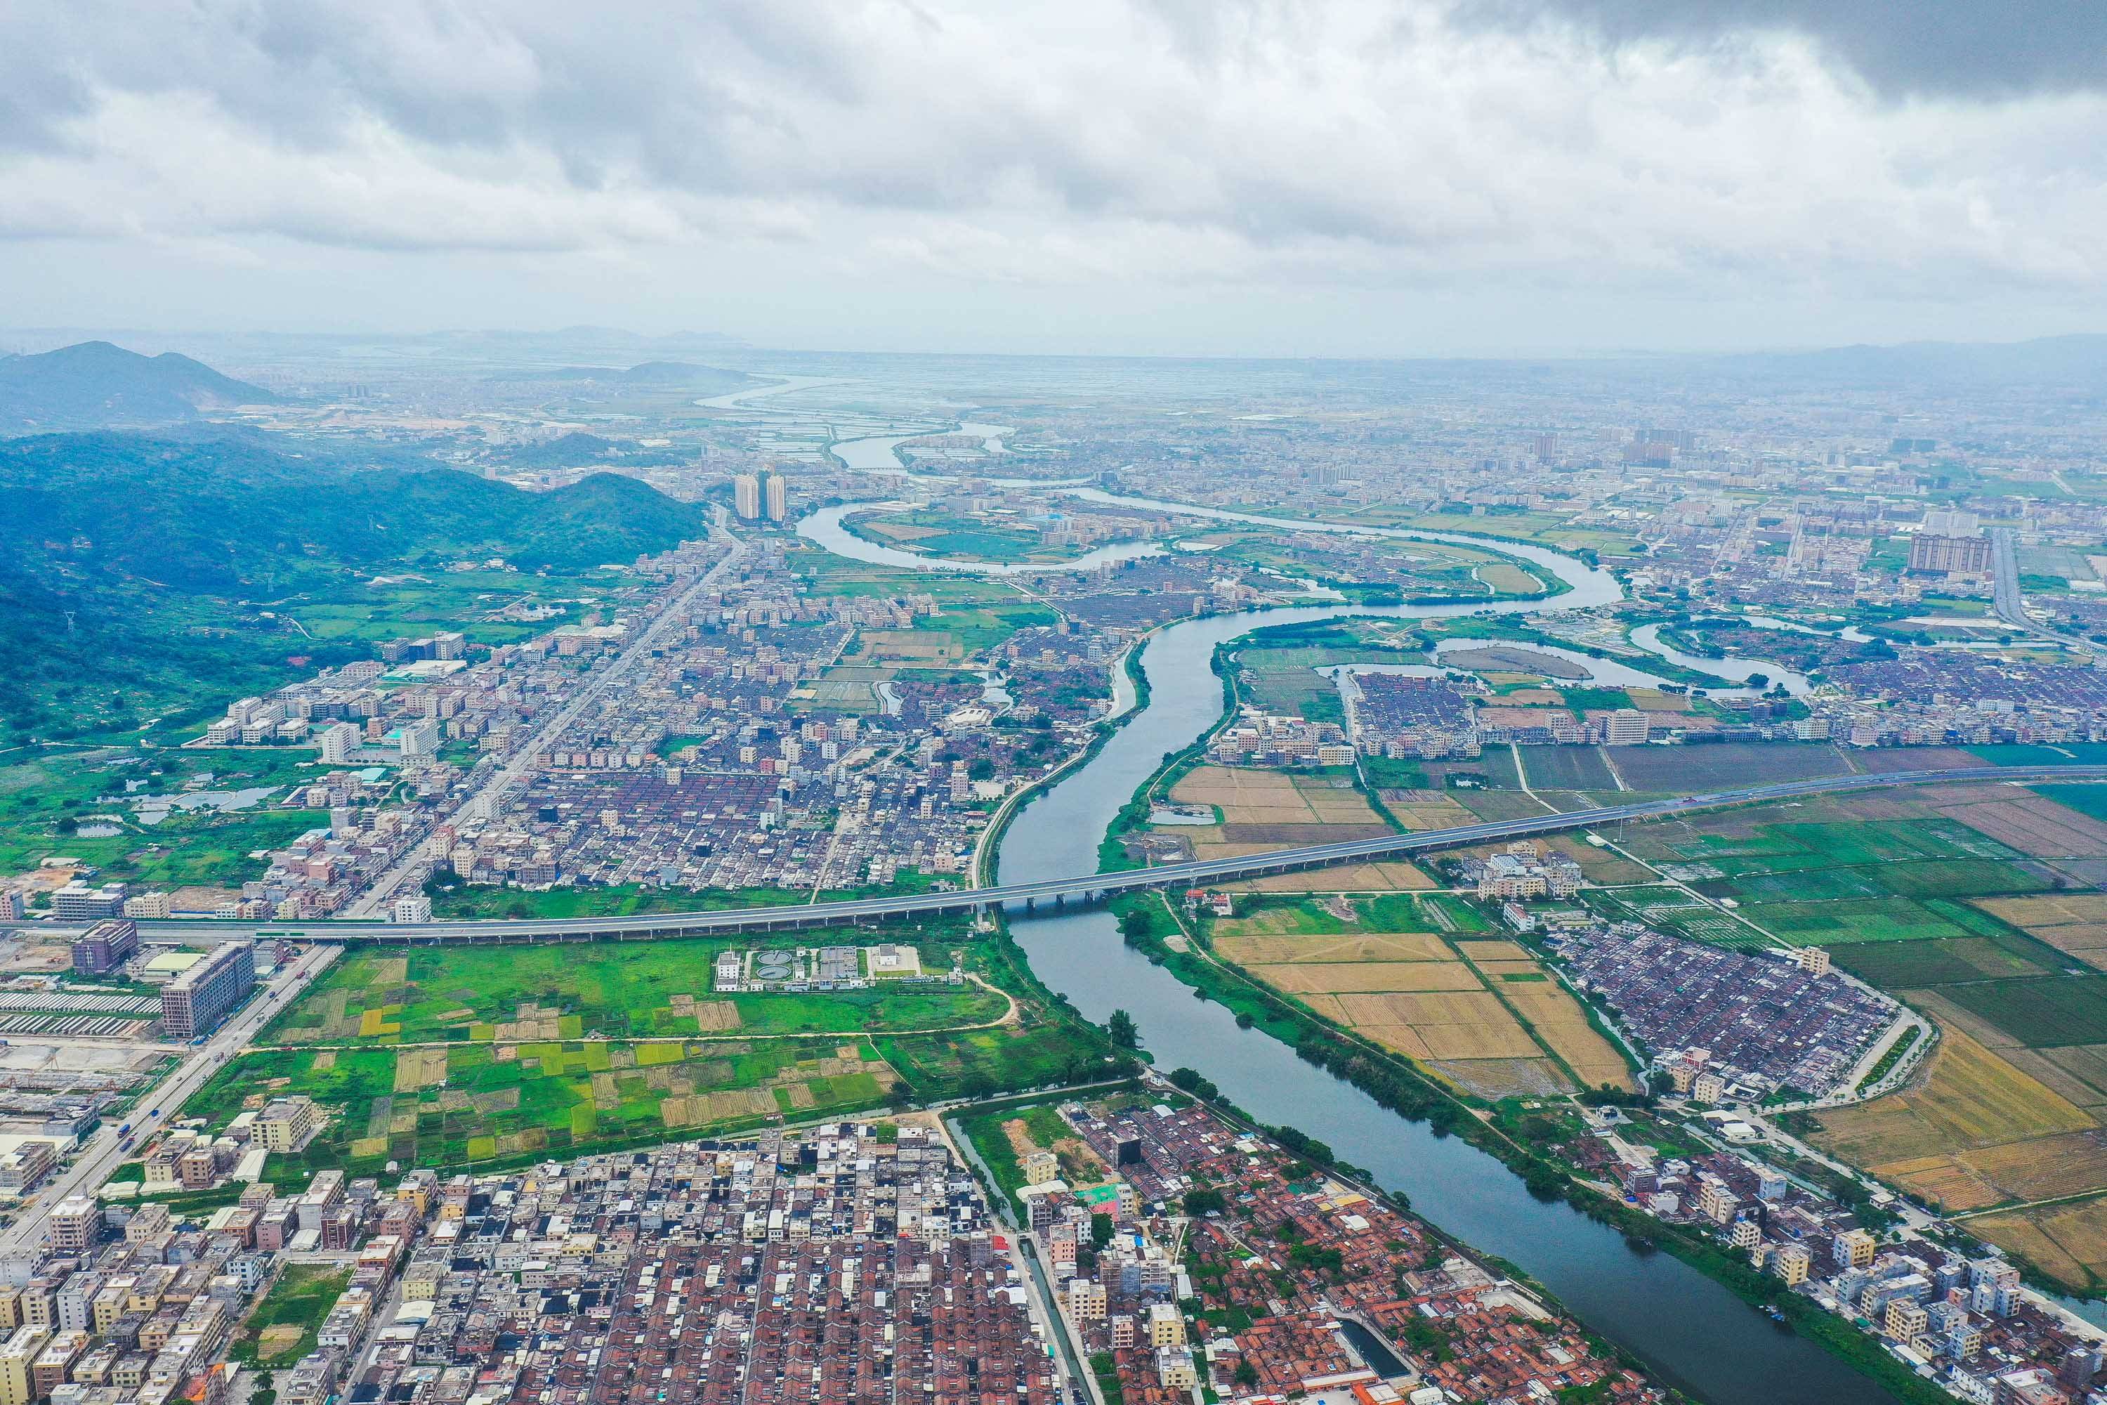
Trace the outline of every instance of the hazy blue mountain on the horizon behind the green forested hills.
<instances>
[{"instance_id":1,"label":"hazy blue mountain on the horizon behind the green forested hills","mask_svg":"<svg viewBox=\"0 0 2107 1405\"><path fill-rule=\"evenodd\" d=\"M107 341L0 358L0 434L173 423L276 400L188 356L139 356Z\"/></svg>"}]
</instances>

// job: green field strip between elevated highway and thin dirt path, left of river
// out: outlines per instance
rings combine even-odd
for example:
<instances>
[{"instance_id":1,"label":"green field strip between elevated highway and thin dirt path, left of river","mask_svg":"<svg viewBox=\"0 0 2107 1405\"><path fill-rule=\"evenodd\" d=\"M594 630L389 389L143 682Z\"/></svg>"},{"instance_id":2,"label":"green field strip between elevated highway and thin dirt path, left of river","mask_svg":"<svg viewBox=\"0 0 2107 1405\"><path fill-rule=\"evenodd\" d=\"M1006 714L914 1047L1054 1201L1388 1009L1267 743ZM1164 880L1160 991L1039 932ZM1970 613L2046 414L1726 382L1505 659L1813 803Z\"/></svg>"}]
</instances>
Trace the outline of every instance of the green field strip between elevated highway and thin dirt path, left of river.
<instances>
[{"instance_id":1,"label":"green field strip between elevated highway and thin dirt path, left of river","mask_svg":"<svg viewBox=\"0 0 2107 1405\"><path fill-rule=\"evenodd\" d=\"M801 933L799 946L868 933ZM847 992L712 994L710 963L729 939L600 942L506 948L360 950L259 1043L497 1043L518 1038L649 1038L676 1034L822 1034L933 1030L997 1020L1007 1001L980 986ZM923 963L948 969L950 950Z\"/></svg>"}]
</instances>

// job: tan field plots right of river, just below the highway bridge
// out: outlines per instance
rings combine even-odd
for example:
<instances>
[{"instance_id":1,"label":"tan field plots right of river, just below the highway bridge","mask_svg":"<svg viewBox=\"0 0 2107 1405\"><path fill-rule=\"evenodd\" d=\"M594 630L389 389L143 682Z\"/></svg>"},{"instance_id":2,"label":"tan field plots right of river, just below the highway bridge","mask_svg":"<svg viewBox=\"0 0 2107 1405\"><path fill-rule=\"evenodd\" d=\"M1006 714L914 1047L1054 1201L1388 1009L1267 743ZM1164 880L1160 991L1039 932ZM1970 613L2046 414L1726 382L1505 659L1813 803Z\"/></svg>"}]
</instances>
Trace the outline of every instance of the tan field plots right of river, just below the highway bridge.
<instances>
[{"instance_id":1,"label":"tan field plots right of river, just below the highway bridge","mask_svg":"<svg viewBox=\"0 0 2107 1405\"><path fill-rule=\"evenodd\" d=\"M1483 1097L1629 1087L1624 1057L1519 946L1450 935L1437 899L1271 906L1212 925L1216 956ZM1439 921L1437 921L1439 914ZM1359 929L1365 925L1365 931Z\"/></svg>"}]
</instances>

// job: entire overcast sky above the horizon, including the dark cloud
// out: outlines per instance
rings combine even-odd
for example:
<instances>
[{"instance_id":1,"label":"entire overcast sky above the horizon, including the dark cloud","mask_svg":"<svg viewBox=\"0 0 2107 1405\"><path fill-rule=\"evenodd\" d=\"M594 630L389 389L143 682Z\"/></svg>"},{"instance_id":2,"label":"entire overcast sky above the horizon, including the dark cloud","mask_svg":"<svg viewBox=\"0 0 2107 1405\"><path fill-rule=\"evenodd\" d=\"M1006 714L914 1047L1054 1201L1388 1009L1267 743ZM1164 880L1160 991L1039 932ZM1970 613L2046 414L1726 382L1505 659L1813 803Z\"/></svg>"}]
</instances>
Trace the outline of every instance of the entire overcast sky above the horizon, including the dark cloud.
<instances>
[{"instance_id":1,"label":"entire overcast sky above the horizon, including the dark cloud","mask_svg":"<svg viewBox=\"0 0 2107 1405\"><path fill-rule=\"evenodd\" d=\"M1336 356L2107 331L2107 4L8 4L0 322Z\"/></svg>"}]
</instances>

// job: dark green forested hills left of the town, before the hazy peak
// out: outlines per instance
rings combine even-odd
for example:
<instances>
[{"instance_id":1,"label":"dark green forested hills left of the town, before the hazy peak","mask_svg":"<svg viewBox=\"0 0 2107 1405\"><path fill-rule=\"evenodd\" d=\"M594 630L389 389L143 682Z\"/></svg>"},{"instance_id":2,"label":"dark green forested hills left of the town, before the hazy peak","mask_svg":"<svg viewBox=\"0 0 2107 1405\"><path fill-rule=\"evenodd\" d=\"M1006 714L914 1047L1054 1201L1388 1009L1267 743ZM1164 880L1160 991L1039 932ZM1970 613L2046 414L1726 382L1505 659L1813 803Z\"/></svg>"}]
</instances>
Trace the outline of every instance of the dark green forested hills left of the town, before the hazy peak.
<instances>
[{"instance_id":1,"label":"dark green forested hills left of the town, before the hazy peak","mask_svg":"<svg viewBox=\"0 0 2107 1405\"><path fill-rule=\"evenodd\" d=\"M358 468L259 434L53 434L0 442L0 718L93 733L145 708L223 701L316 664L299 600L388 571L504 556L579 573L662 552L704 514L594 474L527 493L436 466ZM268 609L276 607L276 609Z\"/></svg>"}]
</instances>

